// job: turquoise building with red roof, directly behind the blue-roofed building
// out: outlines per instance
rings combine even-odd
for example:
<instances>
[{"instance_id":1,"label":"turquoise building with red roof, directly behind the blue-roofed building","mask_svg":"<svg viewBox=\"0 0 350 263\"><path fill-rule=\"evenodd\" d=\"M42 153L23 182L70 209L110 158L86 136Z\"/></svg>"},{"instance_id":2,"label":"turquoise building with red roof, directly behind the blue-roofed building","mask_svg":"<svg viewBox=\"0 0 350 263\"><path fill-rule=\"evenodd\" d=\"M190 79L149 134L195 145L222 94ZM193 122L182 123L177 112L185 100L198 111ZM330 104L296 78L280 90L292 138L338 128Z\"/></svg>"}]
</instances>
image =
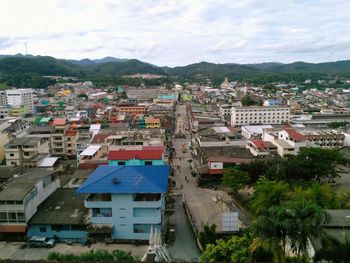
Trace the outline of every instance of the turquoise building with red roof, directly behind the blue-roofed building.
<instances>
[{"instance_id":1,"label":"turquoise building with red roof, directly behind the blue-roofed building","mask_svg":"<svg viewBox=\"0 0 350 263\"><path fill-rule=\"evenodd\" d=\"M164 165L163 150L109 151L109 165Z\"/></svg>"}]
</instances>

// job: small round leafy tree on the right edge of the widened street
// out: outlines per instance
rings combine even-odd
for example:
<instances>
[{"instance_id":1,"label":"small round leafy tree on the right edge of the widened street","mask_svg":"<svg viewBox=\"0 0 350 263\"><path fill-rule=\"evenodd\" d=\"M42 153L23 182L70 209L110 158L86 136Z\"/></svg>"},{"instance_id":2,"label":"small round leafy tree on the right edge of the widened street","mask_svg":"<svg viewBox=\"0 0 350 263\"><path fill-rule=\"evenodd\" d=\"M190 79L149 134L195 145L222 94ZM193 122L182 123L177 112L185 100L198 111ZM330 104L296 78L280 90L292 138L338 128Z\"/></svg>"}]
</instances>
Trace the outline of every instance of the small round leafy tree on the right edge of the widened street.
<instances>
[{"instance_id":1,"label":"small round leafy tree on the right edge of the widened street","mask_svg":"<svg viewBox=\"0 0 350 263\"><path fill-rule=\"evenodd\" d=\"M250 181L249 174L236 167L224 169L222 184L230 187L232 191L238 191L246 186Z\"/></svg>"}]
</instances>

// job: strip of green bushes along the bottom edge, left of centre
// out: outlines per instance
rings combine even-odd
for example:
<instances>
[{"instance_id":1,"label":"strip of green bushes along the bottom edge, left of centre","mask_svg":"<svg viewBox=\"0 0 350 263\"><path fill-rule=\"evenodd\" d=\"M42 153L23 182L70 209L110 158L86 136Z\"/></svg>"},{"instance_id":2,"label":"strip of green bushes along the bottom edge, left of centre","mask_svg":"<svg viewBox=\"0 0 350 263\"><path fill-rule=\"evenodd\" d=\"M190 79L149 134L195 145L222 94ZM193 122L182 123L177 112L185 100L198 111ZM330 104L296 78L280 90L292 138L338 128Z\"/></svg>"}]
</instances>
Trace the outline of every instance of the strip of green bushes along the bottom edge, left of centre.
<instances>
[{"instance_id":1,"label":"strip of green bushes along the bottom edge, left of centre","mask_svg":"<svg viewBox=\"0 0 350 263\"><path fill-rule=\"evenodd\" d=\"M112 253L104 249L98 249L96 251L90 250L80 255L74 254L60 254L52 252L47 257L50 261L83 261L83 262L107 262L107 261L123 261L130 262L136 261L136 258L131 255L130 252L122 250L113 250Z\"/></svg>"}]
</instances>

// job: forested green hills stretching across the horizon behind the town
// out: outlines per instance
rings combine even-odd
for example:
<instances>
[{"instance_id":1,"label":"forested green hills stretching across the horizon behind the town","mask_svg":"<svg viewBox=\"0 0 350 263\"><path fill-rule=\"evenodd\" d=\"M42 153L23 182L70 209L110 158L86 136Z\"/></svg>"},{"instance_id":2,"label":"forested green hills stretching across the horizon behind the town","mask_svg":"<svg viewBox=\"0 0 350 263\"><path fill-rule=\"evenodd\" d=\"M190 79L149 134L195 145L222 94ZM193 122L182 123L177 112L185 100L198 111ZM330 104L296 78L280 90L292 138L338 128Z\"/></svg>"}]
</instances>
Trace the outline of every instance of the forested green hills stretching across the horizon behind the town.
<instances>
[{"instance_id":1,"label":"forested green hills stretching across the horizon behind the town","mask_svg":"<svg viewBox=\"0 0 350 263\"><path fill-rule=\"evenodd\" d=\"M28 79L35 76L38 79L46 75L75 76L81 79L103 80L135 73L158 74L185 81L204 81L211 79L214 83L221 82L225 77L228 77L230 80L245 80L252 83L274 81L298 82L305 79L322 79L330 76L350 77L350 60L318 64L305 62L291 64L275 62L260 64L214 64L201 62L170 68L158 67L137 59L118 59L113 57L97 60L65 60L47 56L0 55L0 77L2 78L2 82L9 78ZM8 84L16 85L17 82L15 80ZM24 84L27 84L27 82L24 81ZM41 86L44 86L44 84Z\"/></svg>"}]
</instances>

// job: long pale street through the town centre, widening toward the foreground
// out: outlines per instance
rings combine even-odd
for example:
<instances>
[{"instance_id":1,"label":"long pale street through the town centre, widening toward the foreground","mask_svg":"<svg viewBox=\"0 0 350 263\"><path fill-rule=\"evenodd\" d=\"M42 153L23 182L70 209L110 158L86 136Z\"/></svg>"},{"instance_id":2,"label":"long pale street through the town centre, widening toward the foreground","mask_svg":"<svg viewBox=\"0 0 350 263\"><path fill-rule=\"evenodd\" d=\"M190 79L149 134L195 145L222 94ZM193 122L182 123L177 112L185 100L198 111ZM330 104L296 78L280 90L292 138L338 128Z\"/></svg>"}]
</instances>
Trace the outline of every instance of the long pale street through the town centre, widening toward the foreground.
<instances>
[{"instance_id":1,"label":"long pale street through the town centre, widening toward the foreground","mask_svg":"<svg viewBox=\"0 0 350 263\"><path fill-rule=\"evenodd\" d=\"M180 118L178 113L180 114ZM186 139L173 139L173 147L176 151L173 158L176 186L177 188L181 188L182 186L182 189L179 191L186 200L197 229L202 230L205 224L215 224L218 230L221 231L221 214L229 211L225 202L232 203L232 199L223 191L214 191L196 186L195 177L191 176L190 164L188 162L192 158L190 151L188 150L186 153L181 152L181 146L183 144L188 145L190 142L190 134L186 131L188 120L185 105L177 106L176 116L180 120L180 126L185 129L186 135Z\"/></svg>"}]
</instances>

